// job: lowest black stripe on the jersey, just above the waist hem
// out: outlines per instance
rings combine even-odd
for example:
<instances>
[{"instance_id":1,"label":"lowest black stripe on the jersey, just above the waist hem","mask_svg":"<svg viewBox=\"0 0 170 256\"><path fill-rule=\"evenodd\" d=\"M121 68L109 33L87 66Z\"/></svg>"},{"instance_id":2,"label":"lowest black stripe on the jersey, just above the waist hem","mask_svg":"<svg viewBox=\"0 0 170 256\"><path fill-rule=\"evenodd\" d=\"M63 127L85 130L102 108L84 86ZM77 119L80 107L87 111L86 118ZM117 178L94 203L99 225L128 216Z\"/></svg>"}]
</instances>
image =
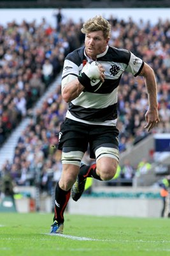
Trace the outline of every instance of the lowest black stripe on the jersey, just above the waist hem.
<instances>
[{"instance_id":1,"label":"lowest black stripe on the jersey, just above the waist hem","mask_svg":"<svg viewBox=\"0 0 170 256\"><path fill-rule=\"evenodd\" d=\"M75 106L69 102L69 112L76 118L91 121L91 122L104 122L114 120L117 118L117 103L108 106L107 108L83 108Z\"/></svg>"}]
</instances>

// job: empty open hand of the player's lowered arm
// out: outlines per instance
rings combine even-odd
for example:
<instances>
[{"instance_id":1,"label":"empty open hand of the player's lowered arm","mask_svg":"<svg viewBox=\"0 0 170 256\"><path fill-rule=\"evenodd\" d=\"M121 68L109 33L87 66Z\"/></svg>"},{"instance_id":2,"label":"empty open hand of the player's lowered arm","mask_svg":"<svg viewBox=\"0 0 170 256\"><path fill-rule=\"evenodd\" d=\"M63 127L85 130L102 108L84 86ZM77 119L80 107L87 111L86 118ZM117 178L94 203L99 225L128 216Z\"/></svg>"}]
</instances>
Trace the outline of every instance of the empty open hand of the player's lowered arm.
<instances>
[{"instance_id":1,"label":"empty open hand of the player's lowered arm","mask_svg":"<svg viewBox=\"0 0 170 256\"><path fill-rule=\"evenodd\" d=\"M148 109L145 114L145 120L147 124L145 125L145 129L148 129L148 132L155 127L159 122L159 113L157 109Z\"/></svg>"}]
</instances>

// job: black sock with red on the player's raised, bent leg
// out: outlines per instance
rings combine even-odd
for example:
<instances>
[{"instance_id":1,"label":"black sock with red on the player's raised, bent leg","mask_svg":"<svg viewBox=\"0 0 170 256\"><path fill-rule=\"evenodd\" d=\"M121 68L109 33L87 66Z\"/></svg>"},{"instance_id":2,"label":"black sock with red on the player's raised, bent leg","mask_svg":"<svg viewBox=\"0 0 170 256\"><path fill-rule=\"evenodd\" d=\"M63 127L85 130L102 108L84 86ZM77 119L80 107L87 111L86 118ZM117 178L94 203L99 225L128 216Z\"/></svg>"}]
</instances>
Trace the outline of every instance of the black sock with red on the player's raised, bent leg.
<instances>
[{"instance_id":1,"label":"black sock with red on the player's raised, bent leg","mask_svg":"<svg viewBox=\"0 0 170 256\"><path fill-rule=\"evenodd\" d=\"M92 165L83 165L80 168L80 172L78 174L78 179L84 180L87 177L93 177L94 179L97 180L101 180L101 178L99 177L99 175L97 175L96 173L96 164L92 164Z\"/></svg>"}]
</instances>

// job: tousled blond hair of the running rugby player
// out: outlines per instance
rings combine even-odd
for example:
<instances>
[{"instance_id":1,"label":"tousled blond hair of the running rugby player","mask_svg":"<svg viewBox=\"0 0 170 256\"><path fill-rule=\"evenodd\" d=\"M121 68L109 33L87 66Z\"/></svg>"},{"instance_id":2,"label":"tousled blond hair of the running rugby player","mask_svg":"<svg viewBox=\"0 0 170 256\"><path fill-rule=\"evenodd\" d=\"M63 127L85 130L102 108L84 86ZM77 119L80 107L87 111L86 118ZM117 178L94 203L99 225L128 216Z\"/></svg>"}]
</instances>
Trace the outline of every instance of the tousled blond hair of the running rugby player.
<instances>
[{"instance_id":1,"label":"tousled blond hair of the running rugby player","mask_svg":"<svg viewBox=\"0 0 170 256\"><path fill-rule=\"evenodd\" d=\"M104 19L100 15L87 20L87 22L83 24L83 28L81 28L81 32L83 34L99 30L103 31L104 38L110 37L111 25L108 20Z\"/></svg>"}]
</instances>

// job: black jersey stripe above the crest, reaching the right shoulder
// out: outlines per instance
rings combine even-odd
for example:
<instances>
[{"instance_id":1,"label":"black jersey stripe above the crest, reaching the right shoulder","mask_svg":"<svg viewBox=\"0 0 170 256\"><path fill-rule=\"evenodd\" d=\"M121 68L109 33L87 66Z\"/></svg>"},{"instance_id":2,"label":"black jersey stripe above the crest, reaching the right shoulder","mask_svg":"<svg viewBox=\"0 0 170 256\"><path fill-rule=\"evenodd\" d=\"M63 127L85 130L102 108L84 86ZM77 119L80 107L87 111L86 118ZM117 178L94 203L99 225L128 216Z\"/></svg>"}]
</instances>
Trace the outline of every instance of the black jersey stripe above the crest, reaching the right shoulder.
<instances>
[{"instance_id":1,"label":"black jersey stripe above the crest, reaching the right shoulder","mask_svg":"<svg viewBox=\"0 0 170 256\"><path fill-rule=\"evenodd\" d=\"M97 58L97 61L112 61L129 65L130 59L131 52L125 49L117 49L110 46L108 48L108 52L104 56Z\"/></svg>"}]
</instances>

